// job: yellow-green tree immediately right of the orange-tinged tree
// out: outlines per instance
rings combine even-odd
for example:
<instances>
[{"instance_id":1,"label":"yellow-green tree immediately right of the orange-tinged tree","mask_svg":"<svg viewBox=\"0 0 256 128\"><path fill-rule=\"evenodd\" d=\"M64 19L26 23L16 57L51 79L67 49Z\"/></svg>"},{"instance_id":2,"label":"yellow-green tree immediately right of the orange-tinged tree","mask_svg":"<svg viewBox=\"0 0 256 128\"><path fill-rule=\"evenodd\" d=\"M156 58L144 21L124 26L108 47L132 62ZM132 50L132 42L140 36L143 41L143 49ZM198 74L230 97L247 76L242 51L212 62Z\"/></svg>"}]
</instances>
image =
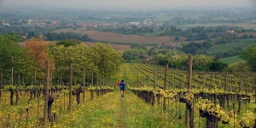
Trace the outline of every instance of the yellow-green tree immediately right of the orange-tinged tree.
<instances>
[{"instance_id":1,"label":"yellow-green tree immediately right of the orange-tinged tree","mask_svg":"<svg viewBox=\"0 0 256 128\"><path fill-rule=\"evenodd\" d=\"M85 67L87 72L95 72L96 67L90 57L90 49L85 44L65 47L55 45L49 48L49 55L55 61L55 76L63 77L62 80L68 82L69 71L67 67L73 63L73 75L76 79L82 79L82 69Z\"/></svg>"}]
</instances>

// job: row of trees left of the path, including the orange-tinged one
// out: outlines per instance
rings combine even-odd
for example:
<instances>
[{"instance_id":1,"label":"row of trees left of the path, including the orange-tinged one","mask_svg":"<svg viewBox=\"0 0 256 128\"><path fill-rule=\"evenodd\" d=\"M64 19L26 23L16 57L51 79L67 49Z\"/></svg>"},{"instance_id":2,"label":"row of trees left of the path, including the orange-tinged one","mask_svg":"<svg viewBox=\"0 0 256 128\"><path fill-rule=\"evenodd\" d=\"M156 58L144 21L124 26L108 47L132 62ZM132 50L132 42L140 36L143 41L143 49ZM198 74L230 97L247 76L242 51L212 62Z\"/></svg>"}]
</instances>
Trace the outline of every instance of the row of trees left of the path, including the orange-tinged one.
<instances>
[{"instance_id":1,"label":"row of trees left of the path, including the orange-tinged one","mask_svg":"<svg viewBox=\"0 0 256 128\"><path fill-rule=\"evenodd\" d=\"M119 70L124 62L121 51L116 51L110 44L97 43L92 47L85 44L49 45L43 37L31 38L26 41L25 49L17 42L17 34L0 35L0 73L3 79L10 78L13 68L14 75L25 78L25 84L32 84L31 77L37 73L37 81L45 77L45 61L50 61L50 70L54 76L68 78L67 68L73 63L77 79L82 77L82 68L86 72L94 72L109 78ZM57 79L57 78L55 78ZM87 78L88 79L88 78ZM9 84L9 80L5 81Z\"/></svg>"}]
</instances>

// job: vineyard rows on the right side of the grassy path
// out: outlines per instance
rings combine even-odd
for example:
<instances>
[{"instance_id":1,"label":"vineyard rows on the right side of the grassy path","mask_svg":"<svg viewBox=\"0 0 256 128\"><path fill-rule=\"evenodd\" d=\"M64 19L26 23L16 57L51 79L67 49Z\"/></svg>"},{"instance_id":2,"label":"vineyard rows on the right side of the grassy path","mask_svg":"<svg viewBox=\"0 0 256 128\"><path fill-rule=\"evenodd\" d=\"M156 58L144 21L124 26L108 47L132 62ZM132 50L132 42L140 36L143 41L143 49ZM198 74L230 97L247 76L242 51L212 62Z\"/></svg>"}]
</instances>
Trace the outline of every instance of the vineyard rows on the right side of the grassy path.
<instances>
[{"instance_id":1,"label":"vineyard rows on the right side of the grassy path","mask_svg":"<svg viewBox=\"0 0 256 128\"><path fill-rule=\"evenodd\" d=\"M167 67L131 64L125 69L133 81L130 90L171 112L182 127L255 127L255 73L193 72L189 80L188 71Z\"/></svg>"}]
</instances>

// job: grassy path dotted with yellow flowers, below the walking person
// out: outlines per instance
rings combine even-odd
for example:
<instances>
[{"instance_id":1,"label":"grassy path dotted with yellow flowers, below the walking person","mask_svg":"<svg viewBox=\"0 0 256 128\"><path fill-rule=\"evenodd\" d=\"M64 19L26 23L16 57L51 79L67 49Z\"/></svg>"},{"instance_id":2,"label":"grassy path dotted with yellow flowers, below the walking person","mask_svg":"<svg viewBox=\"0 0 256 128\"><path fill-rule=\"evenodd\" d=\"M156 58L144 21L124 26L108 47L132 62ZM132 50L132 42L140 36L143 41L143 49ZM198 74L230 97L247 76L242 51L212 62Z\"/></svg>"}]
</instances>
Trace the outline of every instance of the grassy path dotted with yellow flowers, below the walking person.
<instances>
[{"instance_id":1,"label":"grassy path dotted with yellow flowers, below the walking person","mask_svg":"<svg viewBox=\"0 0 256 128\"><path fill-rule=\"evenodd\" d=\"M63 114L53 127L179 127L179 122L172 120L172 113L163 113L161 108L152 107L130 90L125 90L125 97L121 97L118 88L104 96L96 96L72 113Z\"/></svg>"}]
</instances>

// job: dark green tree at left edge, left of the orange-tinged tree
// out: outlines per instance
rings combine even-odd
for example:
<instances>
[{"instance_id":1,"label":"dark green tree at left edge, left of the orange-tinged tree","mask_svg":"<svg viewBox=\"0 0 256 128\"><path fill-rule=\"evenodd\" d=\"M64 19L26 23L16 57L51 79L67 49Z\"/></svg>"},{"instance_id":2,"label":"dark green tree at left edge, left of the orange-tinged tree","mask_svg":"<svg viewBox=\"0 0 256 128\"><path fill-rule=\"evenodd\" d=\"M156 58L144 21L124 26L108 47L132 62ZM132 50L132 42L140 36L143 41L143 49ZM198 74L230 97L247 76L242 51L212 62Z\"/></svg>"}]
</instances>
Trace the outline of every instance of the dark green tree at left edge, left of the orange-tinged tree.
<instances>
[{"instance_id":1,"label":"dark green tree at left edge, left of the orange-tinged tree","mask_svg":"<svg viewBox=\"0 0 256 128\"><path fill-rule=\"evenodd\" d=\"M1 70L3 79L9 79L11 67L14 68L14 75L22 73L21 77L29 74L32 69L28 66L32 61L26 57L26 50L17 44L18 41L20 36L17 34L0 34L0 68L5 69Z\"/></svg>"}]
</instances>

